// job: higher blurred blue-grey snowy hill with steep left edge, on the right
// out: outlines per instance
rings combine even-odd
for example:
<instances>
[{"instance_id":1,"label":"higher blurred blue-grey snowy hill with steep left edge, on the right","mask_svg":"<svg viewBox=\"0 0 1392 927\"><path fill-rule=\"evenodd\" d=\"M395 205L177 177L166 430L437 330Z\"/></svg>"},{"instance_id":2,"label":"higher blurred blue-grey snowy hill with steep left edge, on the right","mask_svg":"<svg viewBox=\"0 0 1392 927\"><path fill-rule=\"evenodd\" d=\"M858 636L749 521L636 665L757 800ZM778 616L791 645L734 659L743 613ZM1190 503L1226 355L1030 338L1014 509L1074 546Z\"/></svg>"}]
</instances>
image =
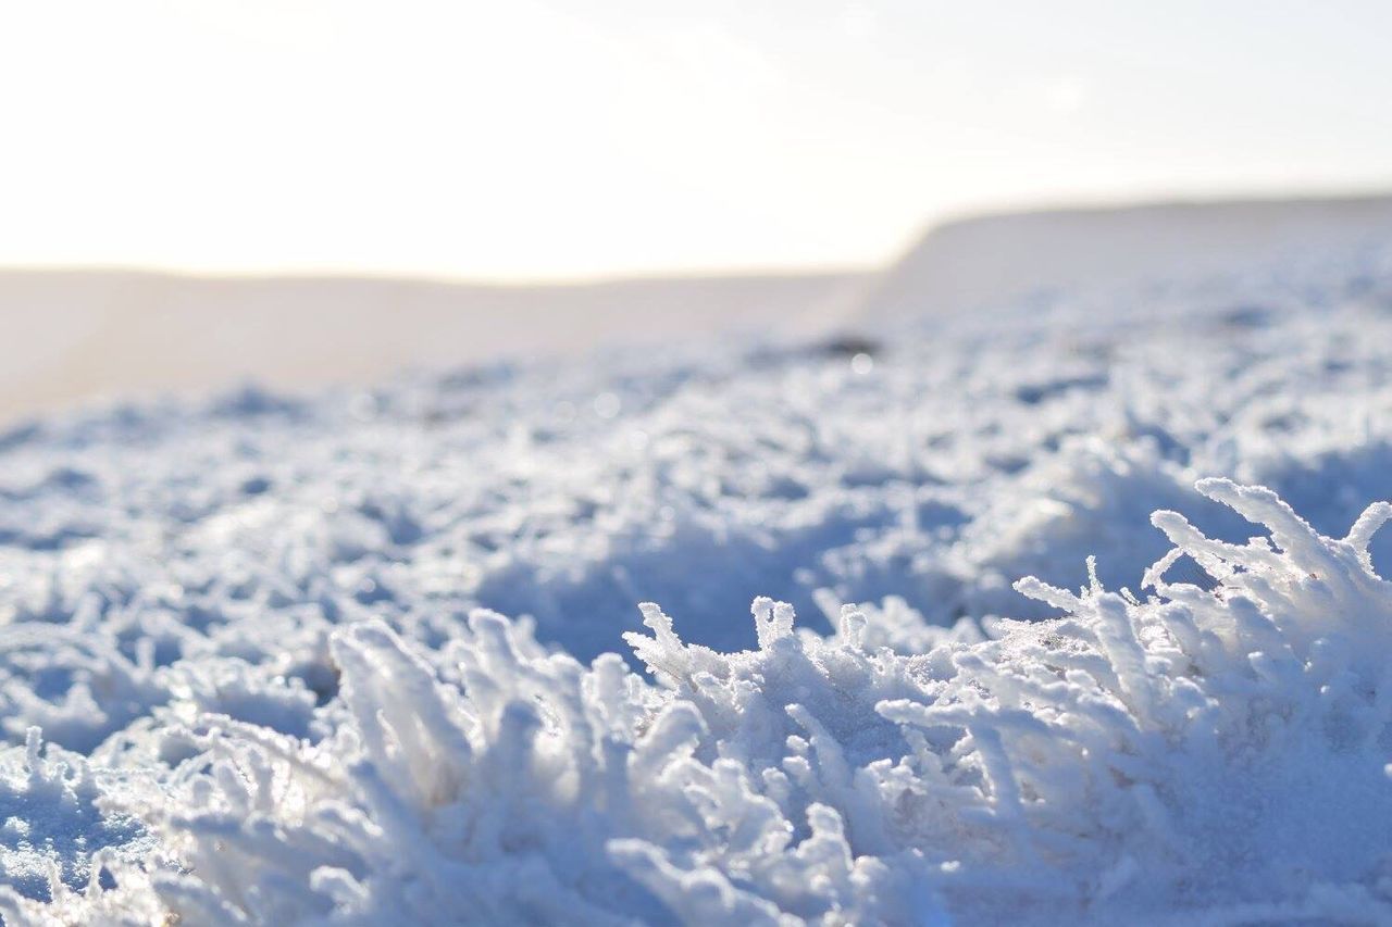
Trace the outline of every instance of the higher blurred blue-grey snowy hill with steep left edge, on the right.
<instances>
[{"instance_id":1,"label":"higher blurred blue-grey snowy hill with steep left edge, on the right","mask_svg":"<svg viewBox=\"0 0 1392 927\"><path fill-rule=\"evenodd\" d=\"M976 216L933 227L874 284L859 320L960 313L1034 294L1175 287L1392 234L1392 196L1173 202Z\"/></svg>"}]
</instances>

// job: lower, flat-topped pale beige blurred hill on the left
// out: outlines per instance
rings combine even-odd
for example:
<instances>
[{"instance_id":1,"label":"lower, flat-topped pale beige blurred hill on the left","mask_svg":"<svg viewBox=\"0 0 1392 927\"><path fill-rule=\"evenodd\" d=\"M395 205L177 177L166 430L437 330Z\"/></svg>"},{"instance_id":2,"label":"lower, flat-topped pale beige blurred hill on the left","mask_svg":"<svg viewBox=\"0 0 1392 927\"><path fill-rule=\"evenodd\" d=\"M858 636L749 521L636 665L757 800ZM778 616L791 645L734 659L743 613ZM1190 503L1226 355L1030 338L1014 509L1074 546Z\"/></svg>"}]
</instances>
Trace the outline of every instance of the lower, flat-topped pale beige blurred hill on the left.
<instances>
[{"instance_id":1,"label":"lower, flat-topped pale beige blurred hill on the left","mask_svg":"<svg viewBox=\"0 0 1392 927\"><path fill-rule=\"evenodd\" d=\"M90 397L369 383L839 317L852 273L489 287L423 280L0 271L0 419Z\"/></svg>"}]
</instances>

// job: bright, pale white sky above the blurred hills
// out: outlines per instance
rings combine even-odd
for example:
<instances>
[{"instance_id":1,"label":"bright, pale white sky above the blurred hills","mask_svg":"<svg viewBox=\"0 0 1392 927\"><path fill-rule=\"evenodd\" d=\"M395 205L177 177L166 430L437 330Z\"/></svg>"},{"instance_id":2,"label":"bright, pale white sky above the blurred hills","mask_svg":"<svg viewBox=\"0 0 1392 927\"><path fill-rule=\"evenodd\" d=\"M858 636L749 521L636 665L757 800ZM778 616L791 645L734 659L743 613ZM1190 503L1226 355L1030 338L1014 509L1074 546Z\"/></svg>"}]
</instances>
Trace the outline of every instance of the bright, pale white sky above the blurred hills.
<instances>
[{"instance_id":1,"label":"bright, pale white sky above the blurred hills","mask_svg":"<svg viewBox=\"0 0 1392 927\"><path fill-rule=\"evenodd\" d=\"M0 0L0 264L880 264L983 209L1392 187L1392 4Z\"/></svg>"}]
</instances>

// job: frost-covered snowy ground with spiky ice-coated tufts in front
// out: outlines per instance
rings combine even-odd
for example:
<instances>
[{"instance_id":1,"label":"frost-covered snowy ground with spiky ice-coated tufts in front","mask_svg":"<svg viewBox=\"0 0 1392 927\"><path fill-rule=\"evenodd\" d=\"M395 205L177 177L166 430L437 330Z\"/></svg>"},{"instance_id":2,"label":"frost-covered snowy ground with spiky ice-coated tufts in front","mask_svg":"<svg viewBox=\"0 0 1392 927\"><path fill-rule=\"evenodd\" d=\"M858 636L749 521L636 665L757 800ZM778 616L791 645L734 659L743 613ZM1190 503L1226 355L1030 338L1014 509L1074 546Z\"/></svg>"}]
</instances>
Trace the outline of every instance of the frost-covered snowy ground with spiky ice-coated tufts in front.
<instances>
[{"instance_id":1,"label":"frost-covered snowy ground with spiky ice-coated tufts in front","mask_svg":"<svg viewBox=\"0 0 1392 927\"><path fill-rule=\"evenodd\" d=\"M0 436L6 923L1392 923L1392 253L870 334Z\"/></svg>"}]
</instances>

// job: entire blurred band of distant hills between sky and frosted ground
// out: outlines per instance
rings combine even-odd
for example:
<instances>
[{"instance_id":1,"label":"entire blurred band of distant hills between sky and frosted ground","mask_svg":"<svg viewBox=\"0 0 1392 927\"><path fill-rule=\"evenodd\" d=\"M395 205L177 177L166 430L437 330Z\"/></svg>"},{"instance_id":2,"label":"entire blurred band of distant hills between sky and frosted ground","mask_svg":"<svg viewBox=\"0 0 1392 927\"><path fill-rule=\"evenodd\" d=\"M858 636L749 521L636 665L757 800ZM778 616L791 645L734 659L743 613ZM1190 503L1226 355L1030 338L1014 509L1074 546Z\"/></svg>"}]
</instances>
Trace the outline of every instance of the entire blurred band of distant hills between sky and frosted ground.
<instances>
[{"instance_id":1,"label":"entire blurred band of distant hills between sky and frosted ground","mask_svg":"<svg viewBox=\"0 0 1392 927\"><path fill-rule=\"evenodd\" d=\"M494 285L0 270L0 423L93 397L367 384L452 366L748 335L874 337L1030 294L1180 284L1392 241L1392 195L1045 209L942 223L883 271Z\"/></svg>"}]
</instances>

